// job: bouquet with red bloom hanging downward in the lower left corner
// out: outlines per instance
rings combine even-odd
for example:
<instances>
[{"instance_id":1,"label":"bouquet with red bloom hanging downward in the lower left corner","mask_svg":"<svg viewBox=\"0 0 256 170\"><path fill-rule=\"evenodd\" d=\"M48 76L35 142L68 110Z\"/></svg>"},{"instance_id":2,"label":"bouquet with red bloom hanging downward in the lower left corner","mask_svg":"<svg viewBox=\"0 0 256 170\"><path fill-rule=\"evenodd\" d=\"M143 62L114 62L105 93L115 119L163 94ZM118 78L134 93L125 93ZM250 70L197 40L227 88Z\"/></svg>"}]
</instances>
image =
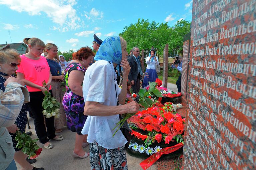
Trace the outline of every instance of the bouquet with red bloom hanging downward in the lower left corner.
<instances>
[{"instance_id":1,"label":"bouquet with red bloom hanging downward in the lower left corner","mask_svg":"<svg viewBox=\"0 0 256 170\"><path fill-rule=\"evenodd\" d=\"M35 159L40 155L42 148L39 148L37 145L38 139L33 139L27 135L25 132L21 133L20 131L16 131L15 140L18 141L16 148L22 148L22 152L28 155L28 158Z\"/></svg>"}]
</instances>

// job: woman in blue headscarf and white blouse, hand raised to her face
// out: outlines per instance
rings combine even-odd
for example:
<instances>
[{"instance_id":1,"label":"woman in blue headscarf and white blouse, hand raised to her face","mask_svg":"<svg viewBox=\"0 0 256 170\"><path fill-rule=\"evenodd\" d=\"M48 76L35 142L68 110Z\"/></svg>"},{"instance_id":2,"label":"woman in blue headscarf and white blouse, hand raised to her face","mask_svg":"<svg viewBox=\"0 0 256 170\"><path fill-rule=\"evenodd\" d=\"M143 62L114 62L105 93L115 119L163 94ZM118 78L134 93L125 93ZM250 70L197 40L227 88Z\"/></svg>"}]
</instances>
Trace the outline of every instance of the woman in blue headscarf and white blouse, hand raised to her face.
<instances>
[{"instance_id":1,"label":"woman in blue headscarf and white blouse, hand raised to her face","mask_svg":"<svg viewBox=\"0 0 256 170\"><path fill-rule=\"evenodd\" d=\"M88 134L91 169L127 170L124 145L127 143L119 129L113 136L119 115L135 113L139 105L132 101L124 104L130 66L126 60L126 41L122 37L107 37L85 73L83 96L84 114L88 115L82 134ZM115 67L123 73L122 89L117 85ZM118 105L120 104L124 105ZM114 129L114 130L113 130Z\"/></svg>"}]
</instances>

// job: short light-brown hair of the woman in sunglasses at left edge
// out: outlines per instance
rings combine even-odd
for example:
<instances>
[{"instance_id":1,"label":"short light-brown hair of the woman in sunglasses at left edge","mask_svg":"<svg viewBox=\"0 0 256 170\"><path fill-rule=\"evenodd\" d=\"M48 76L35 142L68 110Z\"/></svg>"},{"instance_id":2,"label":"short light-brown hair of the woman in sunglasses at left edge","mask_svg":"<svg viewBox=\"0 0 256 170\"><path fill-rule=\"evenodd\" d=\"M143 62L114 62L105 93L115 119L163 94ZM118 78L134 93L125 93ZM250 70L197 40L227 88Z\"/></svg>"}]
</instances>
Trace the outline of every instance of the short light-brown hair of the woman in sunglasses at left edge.
<instances>
[{"instance_id":1,"label":"short light-brown hair of the woman in sunglasses at left edge","mask_svg":"<svg viewBox=\"0 0 256 170\"><path fill-rule=\"evenodd\" d=\"M17 50L14 49L7 49L4 51L0 51L0 63L5 64L10 59L17 60L18 62L21 61L20 55Z\"/></svg>"}]
</instances>

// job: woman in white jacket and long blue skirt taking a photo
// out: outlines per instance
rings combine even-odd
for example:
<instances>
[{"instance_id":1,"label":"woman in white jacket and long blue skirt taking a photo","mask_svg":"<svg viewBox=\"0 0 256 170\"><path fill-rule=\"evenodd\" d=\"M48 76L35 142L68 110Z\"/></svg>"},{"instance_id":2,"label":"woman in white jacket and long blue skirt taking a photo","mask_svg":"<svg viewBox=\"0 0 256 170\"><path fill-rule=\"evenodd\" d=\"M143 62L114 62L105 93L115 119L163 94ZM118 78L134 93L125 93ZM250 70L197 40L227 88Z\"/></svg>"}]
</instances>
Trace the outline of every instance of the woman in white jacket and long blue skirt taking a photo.
<instances>
[{"instance_id":1,"label":"woman in white jacket and long blue skirt taking a photo","mask_svg":"<svg viewBox=\"0 0 256 170\"><path fill-rule=\"evenodd\" d=\"M156 67L155 65L159 65L158 57L156 56L156 51L154 49L150 50L149 56L146 59L146 72L142 84L142 88L149 85L148 82L155 82L156 78L158 78L156 73Z\"/></svg>"}]
</instances>

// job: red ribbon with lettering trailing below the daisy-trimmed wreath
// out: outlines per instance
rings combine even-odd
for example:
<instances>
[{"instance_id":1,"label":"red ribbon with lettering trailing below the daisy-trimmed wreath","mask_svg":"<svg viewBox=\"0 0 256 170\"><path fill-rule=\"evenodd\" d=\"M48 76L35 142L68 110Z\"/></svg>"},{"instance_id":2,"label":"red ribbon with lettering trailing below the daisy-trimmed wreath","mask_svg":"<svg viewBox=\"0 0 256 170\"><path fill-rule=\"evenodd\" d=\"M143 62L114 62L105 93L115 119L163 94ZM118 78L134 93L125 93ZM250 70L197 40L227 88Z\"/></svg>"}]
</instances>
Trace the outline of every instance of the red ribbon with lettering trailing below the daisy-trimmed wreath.
<instances>
[{"instance_id":1,"label":"red ribbon with lettering trailing below the daisy-trimmed wreath","mask_svg":"<svg viewBox=\"0 0 256 170\"><path fill-rule=\"evenodd\" d=\"M172 153L179 148L181 148L184 144L183 143L178 143L177 145L166 147L164 149L161 149L159 152L154 153L144 161L140 163L140 166L142 167L143 170L148 169L151 165L153 165L163 154L169 154Z\"/></svg>"}]
</instances>

